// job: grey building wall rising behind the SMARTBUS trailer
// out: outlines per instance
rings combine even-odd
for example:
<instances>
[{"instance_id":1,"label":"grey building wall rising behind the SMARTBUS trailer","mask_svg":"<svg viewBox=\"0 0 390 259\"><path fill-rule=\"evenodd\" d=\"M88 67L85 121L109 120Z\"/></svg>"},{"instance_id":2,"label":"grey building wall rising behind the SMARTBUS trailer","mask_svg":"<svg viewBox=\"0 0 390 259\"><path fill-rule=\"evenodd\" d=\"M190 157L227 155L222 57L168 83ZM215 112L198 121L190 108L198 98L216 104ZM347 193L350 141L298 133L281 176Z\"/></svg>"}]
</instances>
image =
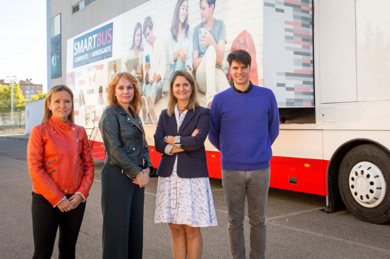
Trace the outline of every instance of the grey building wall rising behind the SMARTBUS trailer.
<instances>
[{"instance_id":1,"label":"grey building wall rising behind the SMARTBUS trailer","mask_svg":"<svg viewBox=\"0 0 390 259\"><path fill-rule=\"evenodd\" d=\"M48 57L50 57L50 19L61 14L61 77L51 79L50 58L48 58L48 89L58 84L66 84L67 39L142 5L148 0L99 0L72 15L72 6L78 2L80 0L47 0Z\"/></svg>"}]
</instances>

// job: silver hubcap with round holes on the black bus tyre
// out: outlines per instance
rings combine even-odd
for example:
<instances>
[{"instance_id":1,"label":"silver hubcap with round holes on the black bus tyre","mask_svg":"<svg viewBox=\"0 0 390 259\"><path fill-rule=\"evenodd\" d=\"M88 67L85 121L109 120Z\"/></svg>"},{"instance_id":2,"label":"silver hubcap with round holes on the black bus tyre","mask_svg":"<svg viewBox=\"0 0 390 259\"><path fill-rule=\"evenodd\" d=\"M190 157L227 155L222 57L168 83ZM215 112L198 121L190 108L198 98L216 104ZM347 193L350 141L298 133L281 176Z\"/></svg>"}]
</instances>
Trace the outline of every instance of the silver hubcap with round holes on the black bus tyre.
<instances>
[{"instance_id":1,"label":"silver hubcap with round holes on the black bus tyre","mask_svg":"<svg viewBox=\"0 0 390 259\"><path fill-rule=\"evenodd\" d=\"M385 199L386 182L376 165L363 161L356 164L349 173L349 189L360 205L373 208Z\"/></svg>"}]
</instances>

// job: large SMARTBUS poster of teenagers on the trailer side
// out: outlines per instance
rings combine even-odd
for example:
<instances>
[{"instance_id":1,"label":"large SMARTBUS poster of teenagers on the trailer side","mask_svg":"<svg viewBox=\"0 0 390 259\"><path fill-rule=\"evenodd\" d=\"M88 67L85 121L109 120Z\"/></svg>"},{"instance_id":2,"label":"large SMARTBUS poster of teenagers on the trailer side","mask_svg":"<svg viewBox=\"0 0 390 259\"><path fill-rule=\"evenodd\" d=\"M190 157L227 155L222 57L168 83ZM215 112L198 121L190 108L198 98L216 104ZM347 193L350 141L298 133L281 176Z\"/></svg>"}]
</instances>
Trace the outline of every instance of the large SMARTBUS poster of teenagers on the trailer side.
<instances>
[{"instance_id":1,"label":"large SMARTBUS poster of teenagers on the trailer side","mask_svg":"<svg viewBox=\"0 0 390 259\"><path fill-rule=\"evenodd\" d=\"M312 35L312 0L265 2L145 1L68 39L67 85L74 91L75 123L97 126L100 115L108 105L108 83L115 73L128 71L139 82L143 99L140 117L147 141L153 145L158 117L161 110L167 108L172 73L176 70L190 71L197 82L200 105L207 107L216 93L230 87L231 75L226 58L236 49L245 49L251 54L250 80L259 86L264 86L263 53L267 49L266 62L270 64L270 69L266 76L273 79L266 87L277 93L280 107L303 107L303 102L294 97L296 91L291 91L298 88L300 94L306 94L306 99L311 100L304 105L313 106L312 36L309 37ZM296 22L298 15L300 20L303 16L307 16L303 17L305 21L311 19L309 26ZM268 30L264 29L264 25ZM303 31L308 42L295 40ZM264 41L265 32L268 36ZM273 44L274 40L282 42ZM214 43L219 49L213 46ZM294 47L305 48L309 56L305 56L305 60L302 60L302 56L297 58L291 51ZM286 56L283 53L291 56L289 62L283 60ZM148 73L145 68L147 62L150 64ZM297 65L300 70L296 69ZM287 72L295 72L295 75ZM96 141L101 141L98 136L95 137ZM206 143L206 149L215 148Z\"/></svg>"}]
</instances>

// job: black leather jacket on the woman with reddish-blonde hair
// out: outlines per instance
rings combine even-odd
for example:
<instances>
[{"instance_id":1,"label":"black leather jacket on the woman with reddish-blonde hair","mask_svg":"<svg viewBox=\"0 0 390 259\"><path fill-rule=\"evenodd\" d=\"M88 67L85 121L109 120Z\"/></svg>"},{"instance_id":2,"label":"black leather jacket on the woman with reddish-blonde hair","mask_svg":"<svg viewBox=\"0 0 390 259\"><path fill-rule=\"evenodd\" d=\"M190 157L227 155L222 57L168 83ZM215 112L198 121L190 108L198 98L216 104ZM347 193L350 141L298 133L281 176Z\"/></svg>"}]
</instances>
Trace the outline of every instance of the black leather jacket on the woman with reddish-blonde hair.
<instances>
[{"instance_id":1,"label":"black leather jacket on the woman with reddish-blonde hair","mask_svg":"<svg viewBox=\"0 0 390 259\"><path fill-rule=\"evenodd\" d=\"M99 129L106 151L105 164L119 166L131 179L143 168L150 167L153 172L139 117L128 115L121 105L107 107L101 115Z\"/></svg>"}]
</instances>

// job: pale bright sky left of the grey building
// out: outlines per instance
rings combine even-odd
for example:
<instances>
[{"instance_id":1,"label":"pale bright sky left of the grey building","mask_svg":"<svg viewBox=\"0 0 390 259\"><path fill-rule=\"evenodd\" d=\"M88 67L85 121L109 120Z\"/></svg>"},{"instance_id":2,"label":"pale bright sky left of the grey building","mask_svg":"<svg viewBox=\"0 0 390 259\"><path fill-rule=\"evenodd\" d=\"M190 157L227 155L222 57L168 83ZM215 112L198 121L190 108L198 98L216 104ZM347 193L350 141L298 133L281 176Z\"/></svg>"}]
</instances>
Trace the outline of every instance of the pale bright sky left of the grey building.
<instances>
[{"instance_id":1,"label":"pale bright sky left of the grey building","mask_svg":"<svg viewBox=\"0 0 390 259\"><path fill-rule=\"evenodd\" d=\"M0 79L31 78L46 92L46 0L0 0L0 10Z\"/></svg>"}]
</instances>

